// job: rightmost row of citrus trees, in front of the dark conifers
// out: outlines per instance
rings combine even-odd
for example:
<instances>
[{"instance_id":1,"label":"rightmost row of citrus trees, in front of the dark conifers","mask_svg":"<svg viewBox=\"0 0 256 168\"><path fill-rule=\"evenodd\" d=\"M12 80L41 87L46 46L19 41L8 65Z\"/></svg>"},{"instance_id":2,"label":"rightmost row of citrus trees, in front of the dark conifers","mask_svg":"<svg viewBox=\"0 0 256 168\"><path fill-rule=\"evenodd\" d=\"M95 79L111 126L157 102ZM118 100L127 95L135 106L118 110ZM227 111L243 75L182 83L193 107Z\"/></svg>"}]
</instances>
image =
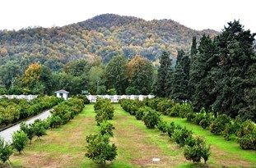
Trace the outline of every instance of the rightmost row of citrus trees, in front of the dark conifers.
<instances>
[{"instance_id":1,"label":"rightmost row of citrus trees, in front of the dark conifers","mask_svg":"<svg viewBox=\"0 0 256 168\"><path fill-rule=\"evenodd\" d=\"M232 119L225 114L216 116L204 109L195 112L189 103L179 104L167 98L147 99L144 103L163 115L186 118L212 134L223 135L226 140L235 135L240 148L256 150L256 125L252 120L242 120L240 116Z\"/></svg>"}]
</instances>

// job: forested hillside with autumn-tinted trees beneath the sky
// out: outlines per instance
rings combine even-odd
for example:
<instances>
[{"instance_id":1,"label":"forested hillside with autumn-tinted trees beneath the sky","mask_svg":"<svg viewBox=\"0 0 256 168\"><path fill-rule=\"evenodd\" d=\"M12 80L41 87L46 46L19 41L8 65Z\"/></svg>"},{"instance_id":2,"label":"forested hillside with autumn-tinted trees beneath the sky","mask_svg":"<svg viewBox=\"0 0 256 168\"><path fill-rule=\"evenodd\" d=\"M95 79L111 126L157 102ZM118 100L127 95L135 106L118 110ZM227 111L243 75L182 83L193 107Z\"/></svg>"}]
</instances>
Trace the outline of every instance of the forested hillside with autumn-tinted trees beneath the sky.
<instances>
[{"instance_id":1,"label":"forested hillside with autumn-tinted trees beneath the sky","mask_svg":"<svg viewBox=\"0 0 256 168\"><path fill-rule=\"evenodd\" d=\"M114 55L136 54L156 60L166 49L175 57L177 48L188 49L192 37L214 36L214 30L192 30L174 20L142 20L132 16L104 14L77 24L53 28L0 31L0 66L7 61L28 65L40 61L59 70L67 61L100 57L107 62Z\"/></svg>"}]
</instances>

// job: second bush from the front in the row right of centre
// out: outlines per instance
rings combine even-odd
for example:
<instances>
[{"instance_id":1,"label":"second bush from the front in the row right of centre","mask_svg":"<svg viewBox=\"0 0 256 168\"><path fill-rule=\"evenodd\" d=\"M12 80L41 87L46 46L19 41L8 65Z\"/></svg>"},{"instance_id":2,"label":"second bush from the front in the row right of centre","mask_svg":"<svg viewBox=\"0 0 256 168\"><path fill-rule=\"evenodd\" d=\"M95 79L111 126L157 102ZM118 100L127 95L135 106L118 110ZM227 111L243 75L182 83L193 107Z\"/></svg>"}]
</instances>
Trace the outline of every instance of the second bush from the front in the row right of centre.
<instances>
[{"instance_id":1,"label":"second bush from the front in the row right of centre","mask_svg":"<svg viewBox=\"0 0 256 168\"><path fill-rule=\"evenodd\" d=\"M174 133L172 134L172 138L176 143L179 144L180 147L183 147L186 139L190 137L192 137L192 131L186 128L175 129Z\"/></svg>"}]
</instances>

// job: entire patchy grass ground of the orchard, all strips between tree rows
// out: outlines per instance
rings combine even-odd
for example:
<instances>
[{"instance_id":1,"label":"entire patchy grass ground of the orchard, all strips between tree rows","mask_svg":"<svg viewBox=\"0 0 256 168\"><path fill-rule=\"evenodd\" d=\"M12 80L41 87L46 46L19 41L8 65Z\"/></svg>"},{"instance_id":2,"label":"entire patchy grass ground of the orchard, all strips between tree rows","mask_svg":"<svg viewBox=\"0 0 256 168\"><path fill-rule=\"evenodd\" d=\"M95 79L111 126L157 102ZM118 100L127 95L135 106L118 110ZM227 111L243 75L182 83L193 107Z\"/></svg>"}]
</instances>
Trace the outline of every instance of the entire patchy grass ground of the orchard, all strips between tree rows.
<instances>
[{"instance_id":1,"label":"entire patchy grass ground of the orchard, all strips between tree rows","mask_svg":"<svg viewBox=\"0 0 256 168\"><path fill-rule=\"evenodd\" d=\"M114 138L111 139L118 148L118 157L108 167L199 167L183 157L182 148L170 141L167 135L157 129L147 129L142 121L136 120L119 106L114 104L115 126ZM93 105L87 105L75 119L59 129L47 131L41 140L36 139L29 145L25 153L15 153L12 158L13 167L99 167L84 155L86 153L86 135L96 131ZM182 125L184 120L175 120ZM210 167L254 167L255 152L242 151L239 148L226 147L226 141L200 130L196 125L188 125L195 134L201 134L212 143ZM195 129L195 128L196 129ZM198 131L197 131L198 130ZM201 132L200 132L201 131ZM227 142L230 143L230 142ZM231 142L230 145L233 143ZM222 148L221 148L222 147ZM242 156L243 155L243 156ZM152 163L153 157L159 157L159 163Z\"/></svg>"}]
</instances>

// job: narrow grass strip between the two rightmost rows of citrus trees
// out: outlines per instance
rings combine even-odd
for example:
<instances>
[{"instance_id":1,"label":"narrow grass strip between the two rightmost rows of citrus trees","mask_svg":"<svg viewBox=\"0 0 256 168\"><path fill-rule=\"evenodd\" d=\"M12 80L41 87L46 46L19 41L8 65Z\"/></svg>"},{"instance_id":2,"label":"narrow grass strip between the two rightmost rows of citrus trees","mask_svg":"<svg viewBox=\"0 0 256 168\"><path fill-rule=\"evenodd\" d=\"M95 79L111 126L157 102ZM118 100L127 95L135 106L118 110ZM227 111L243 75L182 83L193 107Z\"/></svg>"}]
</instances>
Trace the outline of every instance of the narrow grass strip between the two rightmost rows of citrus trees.
<instances>
[{"instance_id":1,"label":"narrow grass strip between the two rightmost rows of citrus trees","mask_svg":"<svg viewBox=\"0 0 256 168\"><path fill-rule=\"evenodd\" d=\"M193 134L206 139L207 143L212 145L210 161L215 160L216 163L228 167L256 167L256 152L241 149L234 138L226 141L222 136L211 134L209 130L202 129L202 127L179 117L162 116L162 118L165 121L174 121L175 124L185 126L192 130Z\"/></svg>"}]
</instances>

